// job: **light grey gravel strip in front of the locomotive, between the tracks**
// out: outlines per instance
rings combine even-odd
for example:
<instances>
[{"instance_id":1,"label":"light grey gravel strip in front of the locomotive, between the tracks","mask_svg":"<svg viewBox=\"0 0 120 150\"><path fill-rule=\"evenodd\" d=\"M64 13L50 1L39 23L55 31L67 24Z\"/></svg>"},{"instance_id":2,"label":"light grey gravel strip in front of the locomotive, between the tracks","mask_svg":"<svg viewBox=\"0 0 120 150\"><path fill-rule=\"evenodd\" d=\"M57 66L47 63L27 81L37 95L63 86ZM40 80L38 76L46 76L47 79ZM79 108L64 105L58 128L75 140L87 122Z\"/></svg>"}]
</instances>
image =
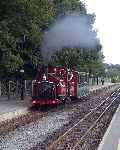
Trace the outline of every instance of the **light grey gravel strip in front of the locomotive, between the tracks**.
<instances>
[{"instance_id":1,"label":"light grey gravel strip in front of the locomotive, between the tracks","mask_svg":"<svg viewBox=\"0 0 120 150\"><path fill-rule=\"evenodd\" d=\"M0 137L0 150L25 150L42 142L53 131L68 123L69 112L54 112Z\"/></svg>"}]
</instances>

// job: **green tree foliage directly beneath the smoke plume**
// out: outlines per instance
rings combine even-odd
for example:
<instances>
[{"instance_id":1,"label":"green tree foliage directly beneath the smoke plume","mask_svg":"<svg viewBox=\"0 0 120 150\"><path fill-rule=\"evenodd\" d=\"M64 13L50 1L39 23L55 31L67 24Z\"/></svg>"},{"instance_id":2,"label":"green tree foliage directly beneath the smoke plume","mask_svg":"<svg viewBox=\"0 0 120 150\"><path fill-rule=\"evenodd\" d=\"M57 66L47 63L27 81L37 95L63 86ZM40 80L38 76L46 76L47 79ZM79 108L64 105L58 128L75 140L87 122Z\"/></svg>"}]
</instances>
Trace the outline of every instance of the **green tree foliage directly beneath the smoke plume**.
<instances>
[{"instance_id":1,"label":"green tree foliage directly beneath the smoke plume","mask_svg":"<svg viewBox=\"0 0 120 150\"><path fill-rule=\"evenodd\" d=\"M97 49L64 48L52 58L52 64L76 67L78 71L101 74L104 71L103 54Z\"/></svg>"}]
</instances>

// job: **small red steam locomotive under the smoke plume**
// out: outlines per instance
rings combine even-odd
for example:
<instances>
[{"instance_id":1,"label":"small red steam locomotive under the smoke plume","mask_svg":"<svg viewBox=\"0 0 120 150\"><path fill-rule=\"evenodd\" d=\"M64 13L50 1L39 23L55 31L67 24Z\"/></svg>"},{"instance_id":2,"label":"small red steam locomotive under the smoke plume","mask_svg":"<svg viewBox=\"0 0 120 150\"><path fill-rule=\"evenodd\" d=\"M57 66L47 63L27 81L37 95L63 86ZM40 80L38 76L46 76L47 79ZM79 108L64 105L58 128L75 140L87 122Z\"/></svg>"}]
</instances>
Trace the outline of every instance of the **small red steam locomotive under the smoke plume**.
<instances>
[{"instance_id":1,"label":"small red steam locomotive under the smoke plume","mask_svg":"<svg viewBox=\"0 0 120 150\"><path fill-rule=\"evenodd\" d=\"M58 105L89 96L86 74L65 67L41 66L32 84L32 106Z\"/></svg>"}]
</instances>

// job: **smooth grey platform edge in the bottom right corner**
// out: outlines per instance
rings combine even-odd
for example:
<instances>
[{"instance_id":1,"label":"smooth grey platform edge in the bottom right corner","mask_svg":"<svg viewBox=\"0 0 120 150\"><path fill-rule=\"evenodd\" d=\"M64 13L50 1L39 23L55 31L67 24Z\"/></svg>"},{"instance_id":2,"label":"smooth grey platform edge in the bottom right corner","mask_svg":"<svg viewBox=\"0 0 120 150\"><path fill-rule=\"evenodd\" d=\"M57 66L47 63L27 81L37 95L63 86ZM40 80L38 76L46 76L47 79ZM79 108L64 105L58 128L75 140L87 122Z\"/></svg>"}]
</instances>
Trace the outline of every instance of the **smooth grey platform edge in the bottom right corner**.
<instances>
[{"instance_id":1,"label":"smooth grey platform edge in the bottom right corner","mask_svg":"<svg viewBox=\"0 0 120 150\"><path fill-rule=\"evenodd\" d=\"M98 150L120 150L120 105L112 118Z\"/></svg>"}]
</instances>

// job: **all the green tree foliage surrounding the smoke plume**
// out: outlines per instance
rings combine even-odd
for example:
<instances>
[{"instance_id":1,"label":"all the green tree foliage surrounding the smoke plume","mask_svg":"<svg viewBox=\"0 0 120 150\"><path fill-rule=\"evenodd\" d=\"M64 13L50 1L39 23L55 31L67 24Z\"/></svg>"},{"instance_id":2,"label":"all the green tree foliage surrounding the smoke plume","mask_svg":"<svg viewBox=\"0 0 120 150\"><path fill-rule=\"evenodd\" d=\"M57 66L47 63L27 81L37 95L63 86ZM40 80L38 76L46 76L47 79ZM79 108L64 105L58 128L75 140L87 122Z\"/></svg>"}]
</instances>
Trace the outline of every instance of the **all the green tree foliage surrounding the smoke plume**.
<instances>
[{"instance_id":1,"label":"all the green tree foliage surrounding the smoke plume","mask_svg":"<svg viewBox=\"0 0 120 150\"><path fill-rule=\"evenodd\" d=\"M22 67L25 73L32 73L42 62L39 49L45 30L58 16L74 11L86 14L85 5L79 0L2 0L0 74L6 76ZM92 16L91 24L94 20L95 16ZM23 35L26 35L25 39ZM78 70L89 72L102 68L102 54L92 50L64 48L53 60L54 64L69 68L76 66Z\"/></svg>"}]
</instances>

